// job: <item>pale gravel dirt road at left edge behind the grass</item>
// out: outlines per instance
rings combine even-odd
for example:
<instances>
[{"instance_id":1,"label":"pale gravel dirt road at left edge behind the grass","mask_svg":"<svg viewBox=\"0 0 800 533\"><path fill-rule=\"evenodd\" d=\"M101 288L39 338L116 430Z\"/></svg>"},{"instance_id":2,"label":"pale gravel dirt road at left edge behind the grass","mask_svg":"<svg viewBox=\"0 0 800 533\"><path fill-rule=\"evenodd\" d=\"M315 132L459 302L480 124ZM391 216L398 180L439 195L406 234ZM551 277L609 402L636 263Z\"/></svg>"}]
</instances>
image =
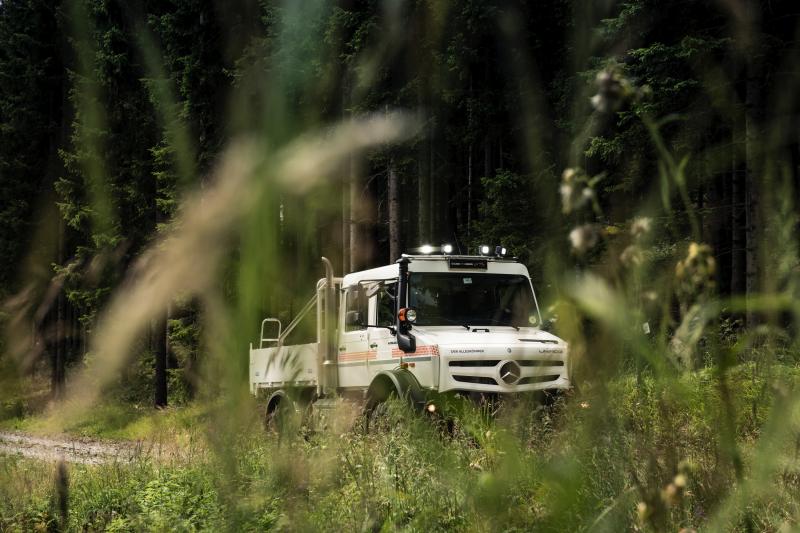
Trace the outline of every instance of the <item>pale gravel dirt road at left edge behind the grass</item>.
<instances>
[{"instance_id":1,"label":"pale gravel dirt road at left edge behind the grass","mask_svg":"<svg viewBox=\"0 0 800 533\"><path fill-rule=\"evenodd\" d=\"M23 433L0 431L0 457L22 455L33 459L71 463L102 464L130 462L142 457L162 455L152 443L106 441L89 438L38 437Z\"/></svg>"}]
</instances>

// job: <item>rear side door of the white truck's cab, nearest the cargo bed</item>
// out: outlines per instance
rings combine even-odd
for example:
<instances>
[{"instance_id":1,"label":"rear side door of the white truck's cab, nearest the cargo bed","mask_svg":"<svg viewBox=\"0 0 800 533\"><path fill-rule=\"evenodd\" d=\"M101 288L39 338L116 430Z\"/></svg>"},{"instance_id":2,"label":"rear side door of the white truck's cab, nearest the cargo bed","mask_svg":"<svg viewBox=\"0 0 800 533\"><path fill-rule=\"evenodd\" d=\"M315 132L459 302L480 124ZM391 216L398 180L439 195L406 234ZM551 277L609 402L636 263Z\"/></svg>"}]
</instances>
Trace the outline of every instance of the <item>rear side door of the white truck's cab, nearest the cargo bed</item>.
<instances>
[{"instance_id":1,"label":"rear side door of the white truck's cab, nearest the cargo bed","mask_svg":"<svg viewBox=\"0 0 800 533\"><path fill-rule=\"evenodd\" d=\"M369 385L367 361L375 358L367 345L369 300L360 285L344 290L339 336L339 386L365 387Z\"/></svg>"}]
</instances>

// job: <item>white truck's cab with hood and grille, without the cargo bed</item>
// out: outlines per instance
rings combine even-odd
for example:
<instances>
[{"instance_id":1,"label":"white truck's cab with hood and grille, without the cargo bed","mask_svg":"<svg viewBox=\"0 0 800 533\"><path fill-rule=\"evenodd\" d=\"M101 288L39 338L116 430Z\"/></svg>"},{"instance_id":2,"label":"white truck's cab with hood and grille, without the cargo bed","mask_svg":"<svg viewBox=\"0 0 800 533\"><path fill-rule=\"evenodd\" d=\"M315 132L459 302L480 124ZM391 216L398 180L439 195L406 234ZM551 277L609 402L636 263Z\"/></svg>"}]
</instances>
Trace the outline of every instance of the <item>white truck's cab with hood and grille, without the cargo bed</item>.
<instances>
[{"instance_id":1,"label":"white truck's cab with hood and grille, without the cargo bed","mask_svg":"<svg viewBox=\"0 0 800 533\"><path fill-rule=\"evenodd\" d=\"M543 331L524 265L498 257L404 256L342 280L339 385L360 387L385 369L436 392L514 393L569 388L567 345ZM399 300L402 298L402 300ZM398 345L405 309L413 350ZM395 331L393 331L393 328Z\"/></svg>"}]
</instances>

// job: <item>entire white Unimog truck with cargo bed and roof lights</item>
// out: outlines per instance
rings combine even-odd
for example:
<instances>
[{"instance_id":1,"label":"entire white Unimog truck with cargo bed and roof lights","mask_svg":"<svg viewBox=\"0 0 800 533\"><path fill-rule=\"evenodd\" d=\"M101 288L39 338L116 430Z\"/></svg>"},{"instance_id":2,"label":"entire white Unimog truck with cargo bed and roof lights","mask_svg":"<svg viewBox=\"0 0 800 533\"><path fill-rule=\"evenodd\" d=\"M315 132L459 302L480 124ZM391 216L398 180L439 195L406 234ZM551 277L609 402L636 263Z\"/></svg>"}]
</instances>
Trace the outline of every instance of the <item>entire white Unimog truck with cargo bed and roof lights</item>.
<instances>
[{"instance_id":1,"label":"entire white Unimog truck with cargo bed and roof lights","mask_svg":"<svg viewBox=\"0 0 800 533\"><path fill-rule=\"evenodd\" d=\"M403 255L343 278L322 258L315 296L286 328L264 319L250 345L250 389L267 400L267 418L279 406L323 407L337 397L371 411L397 395L433 412L442 393L569 388L567 344L540 328L528 270L501 247L481 252ZM316 342L286 345L314 309Z\"/></svg>"}]
</instances>

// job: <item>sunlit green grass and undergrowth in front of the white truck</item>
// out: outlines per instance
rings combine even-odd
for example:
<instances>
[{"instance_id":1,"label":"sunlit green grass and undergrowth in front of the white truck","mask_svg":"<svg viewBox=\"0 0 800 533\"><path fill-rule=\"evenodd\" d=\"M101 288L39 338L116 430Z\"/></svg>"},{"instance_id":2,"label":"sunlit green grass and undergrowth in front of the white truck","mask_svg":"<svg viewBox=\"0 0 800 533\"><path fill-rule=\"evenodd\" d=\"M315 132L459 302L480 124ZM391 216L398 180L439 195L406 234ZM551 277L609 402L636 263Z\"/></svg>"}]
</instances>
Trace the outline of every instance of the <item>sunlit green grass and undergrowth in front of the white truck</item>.
<instances>
[{"instance_id":1,"label":"sunlit green grass and undergrowth in front of the white truck","mask_svg":"<svg viewBox=\"0 0 800 533\"><path fill-rule=\"evenodd\" d=\"M370 432L348 429L354 415L346 408L318 419L317 431L282 436L254 417L233 431L224 408L205 418L191 408L168 416L200 423L205 451L170 462L69 465L67 526L796 529L800 369L774 365L765 376L751 365L724 380L707 370L625 376L546 407L508 405L493 421L467 411L431 423L394 405ZM52 465L5 457L0 480L0 530L59 525Z\"/></svg>"}]
</instances>

